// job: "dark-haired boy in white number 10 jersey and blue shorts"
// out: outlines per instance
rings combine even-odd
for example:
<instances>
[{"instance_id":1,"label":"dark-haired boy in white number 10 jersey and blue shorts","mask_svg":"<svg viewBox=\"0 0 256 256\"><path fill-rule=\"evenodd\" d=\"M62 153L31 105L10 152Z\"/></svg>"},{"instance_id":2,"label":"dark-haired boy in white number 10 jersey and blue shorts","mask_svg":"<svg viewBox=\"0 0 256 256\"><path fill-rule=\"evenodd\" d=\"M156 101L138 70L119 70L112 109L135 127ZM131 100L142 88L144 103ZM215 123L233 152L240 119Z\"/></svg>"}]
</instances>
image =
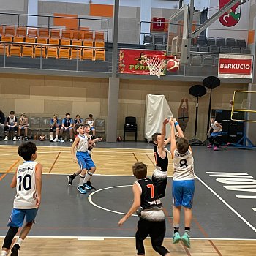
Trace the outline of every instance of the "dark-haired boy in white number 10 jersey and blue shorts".
<instances>
[{"instance_id":1,"label":"dark-haired boy in white number 10 jersey and blue shorts","mask_svg":"<svg viewBox=\"0 0 256 256\"><path fill-rule=\"evenodd\" d=\"M25 219L26 224L11 249L11 256L18 256L20 245L31 230L41 203L42 165L34 162L37 159L37 146L33 142L23 143L18 148L18 154L25 162L17 168L10 184L10 187L16 187L16 196L8 222L10 228L4 238L1 256L6 256L9 252L12 240Z\"/></svg>"}]
</instances>

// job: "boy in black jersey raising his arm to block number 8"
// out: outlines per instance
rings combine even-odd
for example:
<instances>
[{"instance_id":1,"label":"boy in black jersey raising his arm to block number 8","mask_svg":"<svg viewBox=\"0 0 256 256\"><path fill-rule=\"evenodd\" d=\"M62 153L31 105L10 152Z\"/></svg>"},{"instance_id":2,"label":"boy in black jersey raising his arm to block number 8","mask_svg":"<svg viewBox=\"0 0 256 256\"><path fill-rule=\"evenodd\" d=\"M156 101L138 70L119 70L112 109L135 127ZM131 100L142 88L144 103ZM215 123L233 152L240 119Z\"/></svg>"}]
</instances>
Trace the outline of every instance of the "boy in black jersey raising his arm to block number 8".
<instances>
[{"instance_id":1,"label":"boy in black jersey raising his arm to block number 8","mask_svg":"<svg viewBox=\"0 0 256 256\"><path fill-rule=\"evenodd\" d=\"M165 197L165 189L167 185L167 167L168 167L168 157L165 150L165 145L170 142L168 138L165 140L166 135L166 124L168 124L169 119L165 119L162 123L162 132L156 132L152 135L152 140L154 143L154 159L156 161L156 170L154 170L152 181L157 189L159 198Z\"/></svg>"}]
</instances>

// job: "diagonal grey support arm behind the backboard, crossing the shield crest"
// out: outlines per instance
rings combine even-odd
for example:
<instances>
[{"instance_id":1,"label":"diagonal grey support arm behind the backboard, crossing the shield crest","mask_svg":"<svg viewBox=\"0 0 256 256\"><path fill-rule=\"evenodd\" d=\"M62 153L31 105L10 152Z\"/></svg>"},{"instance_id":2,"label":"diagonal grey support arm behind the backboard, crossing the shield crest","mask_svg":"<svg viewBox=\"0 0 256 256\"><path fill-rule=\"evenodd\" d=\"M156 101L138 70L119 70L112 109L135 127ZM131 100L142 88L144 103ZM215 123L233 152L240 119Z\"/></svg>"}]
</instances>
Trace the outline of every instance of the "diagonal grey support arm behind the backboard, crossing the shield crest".
<instances>
[{"instance_id":1,"label":"diagonal grey support arm behind the backboard, crossing the shield crest","mask_svg":"<svg viewBox=\"0 0 256 256\"><path fill-rule=\"evenodd\" d=\"M206 22L204 22L201 26L199 26L195 31L192 32L192 38L197 37L201 32L203 32L208 26L214 23L221 15L231 9L235 4L241 1L241 4L244 4L247 0L231 0L228 4L226 4L222 9L216 12L211 18L208 18Z\"/></svg>"}]
</instances>

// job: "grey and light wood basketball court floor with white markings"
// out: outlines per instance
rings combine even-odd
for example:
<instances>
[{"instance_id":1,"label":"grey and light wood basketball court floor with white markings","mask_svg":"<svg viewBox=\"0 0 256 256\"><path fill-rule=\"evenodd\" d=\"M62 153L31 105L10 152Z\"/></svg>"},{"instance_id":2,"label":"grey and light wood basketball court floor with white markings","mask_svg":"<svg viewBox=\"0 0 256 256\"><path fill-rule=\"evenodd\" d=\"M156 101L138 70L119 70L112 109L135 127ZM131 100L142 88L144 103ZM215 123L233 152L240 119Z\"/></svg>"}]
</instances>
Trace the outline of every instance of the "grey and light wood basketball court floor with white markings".
<instances>
[{"instance_id":1,"label":"grey and light wood basketball court floor with white markings","mask_svg":"<svg viewBox=\"0 0 256 256\"><path fill-rule=\"evenodd\" d=\"M134 143L131 148L117 148L120 143L99 144L105 148L94 148L93 153L98 175L93 177L92 184L97 190L87 195L76 191L78 180L74 181L73 187L67 185L67 174L78 167L72 162L70 148L67 147L69 143L64 145L37 147L37 161L42 163L44 173L43 203L37 225L24 241L20 255L136 255L134 234L137 217L131 217L122 227L118 227L117 222L132 203L129 187L134 181L132 164L145 162L149 176L154 170L151 145ZM0 146L1 244L15 195L9 184L15 168L22 162L17 147ZM171 243L171 178L162 200L168 216L164 245L171 255L255 255L255 151L227 148L214 152L202 147L194 147L193 151L198 178L192 248ZM168 175L172 176L172 173L170 160ZM146 255L157 255L151 249L149 239L145 244Z\"/></svg>"}]
</instances>

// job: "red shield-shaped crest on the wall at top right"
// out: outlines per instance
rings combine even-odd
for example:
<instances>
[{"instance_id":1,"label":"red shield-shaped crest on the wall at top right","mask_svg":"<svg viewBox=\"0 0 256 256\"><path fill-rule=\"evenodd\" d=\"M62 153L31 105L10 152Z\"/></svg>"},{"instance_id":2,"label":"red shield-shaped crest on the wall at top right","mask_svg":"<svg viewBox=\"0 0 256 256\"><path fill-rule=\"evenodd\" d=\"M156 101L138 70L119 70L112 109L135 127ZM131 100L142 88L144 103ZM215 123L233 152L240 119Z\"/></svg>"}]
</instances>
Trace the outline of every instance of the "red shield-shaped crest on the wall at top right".
<instances>
[{"instance_id":1,"label":"red shield-shaped crest on the wall at top right","mask_svg":"<svg viewBox=\"0 0 256 256\"><path fill-rule=\"evenodd\" d=\"M230 0L219 0L219 10L222 9ZM241 18L241 1L233 5L224 15L219 17L219 22L223 26L235 26Z\"/></svg>"}]
</instances>

